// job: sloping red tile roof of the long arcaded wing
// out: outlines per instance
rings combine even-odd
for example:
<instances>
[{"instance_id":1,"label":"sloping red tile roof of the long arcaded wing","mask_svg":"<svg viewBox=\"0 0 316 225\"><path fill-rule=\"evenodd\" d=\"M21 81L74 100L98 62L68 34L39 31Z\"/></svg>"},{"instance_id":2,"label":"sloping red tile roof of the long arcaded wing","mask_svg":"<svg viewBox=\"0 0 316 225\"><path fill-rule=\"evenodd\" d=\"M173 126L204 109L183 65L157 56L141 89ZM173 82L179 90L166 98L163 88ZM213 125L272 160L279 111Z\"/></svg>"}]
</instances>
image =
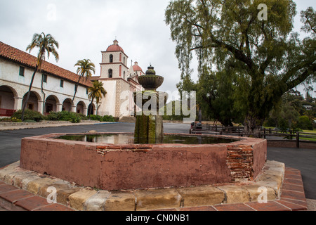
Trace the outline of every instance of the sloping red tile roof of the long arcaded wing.
<instances>
[{"instance_id":1,"label":"sloping red tile roof of the long arcaded wing","mask_svg":"<svg viewBox=\"0 0 316 225\"><path fill-rule=\"evenodd\" d=\"M12 60L15 63L20 63L22 65L28 66L30 68L35 68L37 65L37 57L26 53L25 51L21 51L19 49L15 49L8 44L4 44L0 41L0 57L6 58L8 60ZM70 82L77 83L79 79L79 75L71 72L69 70L65 70L63 68L58 67L57 65L53 65L44 61L41 65L41 72L46 72L50 75L55 75L56 77L60 77L65 80L69 80ZM81 79L80 84L84 86L92 86L92 83L89 79Z\"/></svg>"}]
</instances>

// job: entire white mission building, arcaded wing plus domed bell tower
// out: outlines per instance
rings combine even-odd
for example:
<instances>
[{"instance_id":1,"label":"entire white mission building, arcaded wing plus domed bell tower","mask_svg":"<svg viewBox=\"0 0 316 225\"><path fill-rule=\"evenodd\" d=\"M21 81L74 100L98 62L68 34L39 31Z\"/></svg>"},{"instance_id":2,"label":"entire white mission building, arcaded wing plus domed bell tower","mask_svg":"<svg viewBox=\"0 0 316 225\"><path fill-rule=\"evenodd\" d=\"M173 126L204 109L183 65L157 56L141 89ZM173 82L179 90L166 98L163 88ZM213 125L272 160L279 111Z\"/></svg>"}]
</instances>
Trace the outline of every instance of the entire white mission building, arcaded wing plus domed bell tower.
<instances>
[{"instance_id":1,"label":"entire white mission building, arcaded wing plus domed bell tower","mask_svg":"<svg viewBox=\"0 0 316 225\"><path fill-rule=\"evenodd\" d=\"M133 116L140 110L133 101L133 92L143 90L138 77L145 74L137 62L128 67L129 56L118 43L114 40L106 51L101 51L100 76L83 78L78 86L77 74L44 61L35 76L27 108L43 115L62 110L87 115L92 107L93 114L101 116ZM36 57L0 41L0 116L11 116L22 109L36 63ZM88 87L95 80L103 82L107 91L99 105L88 99Z\"/></svg>"}]
</instances>

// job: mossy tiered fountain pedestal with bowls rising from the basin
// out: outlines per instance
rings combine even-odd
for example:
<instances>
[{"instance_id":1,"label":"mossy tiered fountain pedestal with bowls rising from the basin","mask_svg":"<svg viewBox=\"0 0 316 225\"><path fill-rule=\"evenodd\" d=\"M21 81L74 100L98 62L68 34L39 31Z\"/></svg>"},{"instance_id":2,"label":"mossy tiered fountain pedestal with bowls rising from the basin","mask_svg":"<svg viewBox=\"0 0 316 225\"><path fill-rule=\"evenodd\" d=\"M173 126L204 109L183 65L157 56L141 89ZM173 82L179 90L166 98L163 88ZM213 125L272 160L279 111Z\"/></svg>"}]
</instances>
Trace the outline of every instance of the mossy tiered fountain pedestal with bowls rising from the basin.
<instances>
[{"instance_id":1,"label":"mossy tiered fountain pedestal with bowls rising from the basin","mask_svg":"<svg viewBox=\"0 0 316 225\"><path fill-rule=\"evenodd\" d=\"M164 126L159 106L166 103L168 95L157 88L164 82L164 77L156 75L150 66L145 75L138 77L138 82L145 91L133 93L136 105L141 108L136 115L134 137L138 143L162 143Z\"/></svg>"}]
</instances>

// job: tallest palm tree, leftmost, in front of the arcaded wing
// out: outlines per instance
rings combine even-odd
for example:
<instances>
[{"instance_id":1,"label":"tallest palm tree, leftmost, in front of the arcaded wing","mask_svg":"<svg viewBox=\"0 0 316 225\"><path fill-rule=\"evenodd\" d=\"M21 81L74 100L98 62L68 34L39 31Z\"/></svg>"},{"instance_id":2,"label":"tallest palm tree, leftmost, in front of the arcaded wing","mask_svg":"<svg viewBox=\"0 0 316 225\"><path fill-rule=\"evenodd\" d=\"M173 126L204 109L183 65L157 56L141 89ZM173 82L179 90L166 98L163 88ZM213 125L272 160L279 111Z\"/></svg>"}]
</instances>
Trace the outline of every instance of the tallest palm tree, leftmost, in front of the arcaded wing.
<instances>
[{"instance_id":1,"label":"tallest palm tree, leftmost, in front of the arcaded wing","mask_svg":"<svg viewBox=\"0 0 316 225\"><path fill-rule=\"evenodd\" d=\"M55 48L58 49L58 42L51 36L51 34L45 35L43 32L41 34L34 34L31 44L27 46L26 51L31 52L35 47L39 48L39 54L37 55L37 65L35 66L34 73L32 75L31 83L29 84L29 91L27 92L27 98L22 105L22 121L24 121L24 112L27 102L29 101L29 96L31 94L32 85L34 82L34 77L37 71L41 70L41 65L43 60L45 60L45 54L47 53L47 58L49 58L50 53L53 54L55 60L58 61L59 56Z\"/></svg>"}]
</instances>

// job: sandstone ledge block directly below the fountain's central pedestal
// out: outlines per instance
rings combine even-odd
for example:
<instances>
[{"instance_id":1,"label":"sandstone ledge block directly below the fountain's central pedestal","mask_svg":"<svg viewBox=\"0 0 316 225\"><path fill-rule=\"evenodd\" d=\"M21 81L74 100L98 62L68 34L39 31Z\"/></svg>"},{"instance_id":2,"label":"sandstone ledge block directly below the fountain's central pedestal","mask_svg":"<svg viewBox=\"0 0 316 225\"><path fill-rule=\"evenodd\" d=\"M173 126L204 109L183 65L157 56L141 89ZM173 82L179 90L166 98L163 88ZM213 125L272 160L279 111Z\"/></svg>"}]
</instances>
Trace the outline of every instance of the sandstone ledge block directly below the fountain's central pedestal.
<instances>
[{"instance_id":1,"label":"sandstone ledge block directly below the fountain's central pedestal","mask_svg":"<svg viewBox=\"0 0 316 225\"><path fill-rule=\"evenodd\" d=\"M136 211L178 208L181 195L174 189L135 191Z\"/></svg>"}]
</instances>

